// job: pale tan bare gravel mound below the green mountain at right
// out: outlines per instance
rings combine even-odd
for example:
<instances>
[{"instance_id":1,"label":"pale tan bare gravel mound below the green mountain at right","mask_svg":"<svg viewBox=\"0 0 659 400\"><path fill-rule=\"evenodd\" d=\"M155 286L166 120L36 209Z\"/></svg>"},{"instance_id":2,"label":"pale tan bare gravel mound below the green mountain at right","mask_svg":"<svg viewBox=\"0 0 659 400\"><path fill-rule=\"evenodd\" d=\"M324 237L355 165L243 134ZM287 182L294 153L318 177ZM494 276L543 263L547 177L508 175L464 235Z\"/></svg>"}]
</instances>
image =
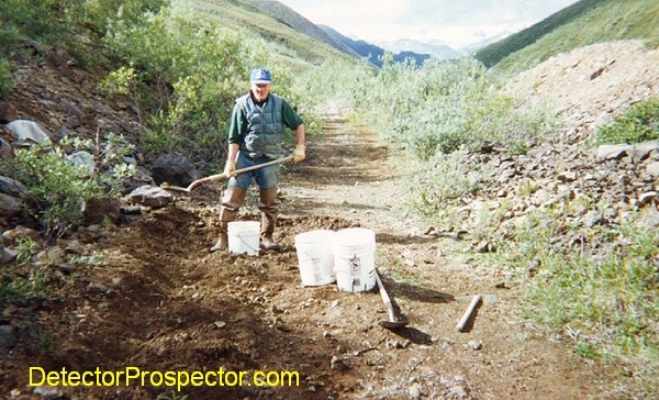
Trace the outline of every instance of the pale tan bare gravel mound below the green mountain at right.
<instances>
[{"instance_id":1,"label":"pale tan bare gravel mound below the green mountain at right","mask_svg":"<svg viewBox=\"0 0 659 400\"><path fill-rule=\"evenodd\" d=\"M581 143L629 105L659 96L659 49L641 41L580 47L518 74L506 90L527 105L548 105L561 140Z\"/></svg>"}]
</instances>

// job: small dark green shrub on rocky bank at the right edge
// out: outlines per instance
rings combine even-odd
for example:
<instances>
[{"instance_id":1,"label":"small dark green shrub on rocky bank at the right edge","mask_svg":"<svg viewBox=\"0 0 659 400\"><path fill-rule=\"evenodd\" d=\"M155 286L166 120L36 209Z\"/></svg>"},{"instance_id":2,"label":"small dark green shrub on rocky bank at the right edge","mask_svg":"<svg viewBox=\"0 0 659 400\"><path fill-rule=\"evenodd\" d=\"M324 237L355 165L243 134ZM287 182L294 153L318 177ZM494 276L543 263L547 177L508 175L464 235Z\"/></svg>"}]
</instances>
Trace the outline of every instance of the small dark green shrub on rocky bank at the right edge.
<instances>
[{"instance_id":1,"label":"small dark green shrub on rocky bank at the right edge","mask_svg":"<svg viewBox=\"0 0 659 400\"><path fill-rule=\"evenodd\" d=\"M640 101L597 130L594 137L601 144L635 144L659 138L659 98Z\"/></svg>"}]
</instances>

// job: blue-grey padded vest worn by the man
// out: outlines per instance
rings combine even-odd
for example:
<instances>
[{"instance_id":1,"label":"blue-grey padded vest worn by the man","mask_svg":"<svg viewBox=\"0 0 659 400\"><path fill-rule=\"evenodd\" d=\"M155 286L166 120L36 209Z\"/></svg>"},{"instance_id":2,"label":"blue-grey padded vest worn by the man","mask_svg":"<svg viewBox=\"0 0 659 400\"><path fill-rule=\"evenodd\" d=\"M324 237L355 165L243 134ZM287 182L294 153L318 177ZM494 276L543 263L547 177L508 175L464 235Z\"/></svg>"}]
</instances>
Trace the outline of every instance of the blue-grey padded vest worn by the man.
<instances>
[{"instance_id":1,"label":"blue-grey padded vest worn by the man","mask_svg":"<svg viewBox=\"0 0 659 400\"><path fill-rule=\"evenodd\" d=\"M263 107L257 105L249 93L236 100L247 119L244 149L247 151L250 157L281 157L281 140L283 136L282 101L279 96L272 93Z\"/></svg>"}]
</instances>

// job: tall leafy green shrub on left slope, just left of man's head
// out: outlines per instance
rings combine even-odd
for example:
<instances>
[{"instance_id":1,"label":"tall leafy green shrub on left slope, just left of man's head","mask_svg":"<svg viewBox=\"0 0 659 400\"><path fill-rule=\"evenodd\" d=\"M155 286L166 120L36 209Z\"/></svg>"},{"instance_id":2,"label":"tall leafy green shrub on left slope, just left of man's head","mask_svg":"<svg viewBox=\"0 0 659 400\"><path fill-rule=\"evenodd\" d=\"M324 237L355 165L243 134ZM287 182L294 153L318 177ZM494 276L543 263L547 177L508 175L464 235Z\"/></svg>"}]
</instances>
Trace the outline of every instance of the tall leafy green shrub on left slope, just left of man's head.
<instances>
[{"instance_id":1,"label":"tall leafy green shrub on left slope, just left of man's head","mask_svg":"<svg viewBox=\"0 0 659 400\"><path fill-rule=\"evenodd\" d=\"M143 111L147 154L177 149L202 169L223 164L231 110L248 88L252 56L241 37L178 4L138 25L113 24L105 42L131 67L104 87Z\"/></svg>"}]
</instances>

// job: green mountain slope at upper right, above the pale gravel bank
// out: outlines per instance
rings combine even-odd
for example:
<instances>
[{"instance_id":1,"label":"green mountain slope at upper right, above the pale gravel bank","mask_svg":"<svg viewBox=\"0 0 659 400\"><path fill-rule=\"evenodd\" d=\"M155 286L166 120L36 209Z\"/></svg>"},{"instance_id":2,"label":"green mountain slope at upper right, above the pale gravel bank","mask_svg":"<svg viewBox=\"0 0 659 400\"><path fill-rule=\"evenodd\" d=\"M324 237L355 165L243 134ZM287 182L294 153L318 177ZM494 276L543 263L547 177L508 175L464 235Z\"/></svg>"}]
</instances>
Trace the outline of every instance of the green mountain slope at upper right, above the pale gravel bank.
<instances>
[{"instance_id":1,"label":"green mountain slope at upper right, above the pale gravel bank","mask_svg":"<svg viewBox=\"0 0 659 400\"><path fill-rule=\"evenodd\" d=\"M578 47L635 38L659 46L658 1L581 0L474 56L488 67L514 73Z\"/></svg>"}]
</instances>

